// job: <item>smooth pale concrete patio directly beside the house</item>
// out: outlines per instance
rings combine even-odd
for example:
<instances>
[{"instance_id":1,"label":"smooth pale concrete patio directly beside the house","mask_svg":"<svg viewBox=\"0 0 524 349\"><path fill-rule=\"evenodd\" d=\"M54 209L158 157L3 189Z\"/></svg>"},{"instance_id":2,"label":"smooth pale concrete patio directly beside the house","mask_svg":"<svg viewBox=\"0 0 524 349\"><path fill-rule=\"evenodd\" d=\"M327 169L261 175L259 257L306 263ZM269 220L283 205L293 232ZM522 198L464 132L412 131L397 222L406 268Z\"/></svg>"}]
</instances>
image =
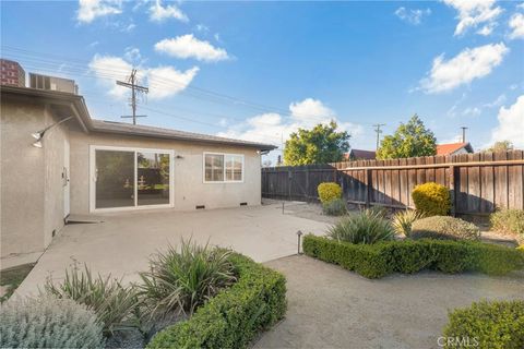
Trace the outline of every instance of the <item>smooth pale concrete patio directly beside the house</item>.
<instances>
[{"instance_id":1,"label":"smooth pale concrete patio directly beside the house","mask_svg":"<svg viewBox=\"0 0 524 349\"><path fill-rule=\"evenodd\" d=\"M16 294L35 293L46 277L63 278L78 261L92 272L138 280L147 257L167 244L192 238L199 243L231 248L257 262L297 252L297 230L321 234L326 224L283 215L278 205L199 212L135 210L99 215L99 224L68 225L39 258Z\"/></svg>"}]
</instances>

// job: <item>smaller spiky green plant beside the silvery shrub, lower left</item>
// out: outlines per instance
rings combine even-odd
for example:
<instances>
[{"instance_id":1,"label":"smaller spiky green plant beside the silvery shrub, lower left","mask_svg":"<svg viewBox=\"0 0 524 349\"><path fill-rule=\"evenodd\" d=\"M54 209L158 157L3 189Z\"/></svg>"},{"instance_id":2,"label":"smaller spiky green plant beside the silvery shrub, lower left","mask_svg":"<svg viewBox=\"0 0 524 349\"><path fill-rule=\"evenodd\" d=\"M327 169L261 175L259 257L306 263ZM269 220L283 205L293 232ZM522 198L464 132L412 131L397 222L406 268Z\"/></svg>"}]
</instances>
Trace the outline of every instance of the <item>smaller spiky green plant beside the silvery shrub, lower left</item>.
<instances>
[{"instance_id":1,"label":"smaller spiky green plant beside the silvery shrub, lower left","mask_svg":"<svg viewBox=\"0 0 524 349\"><path fill-rule=\"evenodd\" d=\"M134 327L134 311L139 305L136 292L132 287L123 287L109 275L94 278L84 265L80 270L76 265L66 270L66 278L55 285L51 278L46 280L44 290L56 298L69 298L92 309L99 322L104 324L104 334Z\"/></svg>"}]
</instances>

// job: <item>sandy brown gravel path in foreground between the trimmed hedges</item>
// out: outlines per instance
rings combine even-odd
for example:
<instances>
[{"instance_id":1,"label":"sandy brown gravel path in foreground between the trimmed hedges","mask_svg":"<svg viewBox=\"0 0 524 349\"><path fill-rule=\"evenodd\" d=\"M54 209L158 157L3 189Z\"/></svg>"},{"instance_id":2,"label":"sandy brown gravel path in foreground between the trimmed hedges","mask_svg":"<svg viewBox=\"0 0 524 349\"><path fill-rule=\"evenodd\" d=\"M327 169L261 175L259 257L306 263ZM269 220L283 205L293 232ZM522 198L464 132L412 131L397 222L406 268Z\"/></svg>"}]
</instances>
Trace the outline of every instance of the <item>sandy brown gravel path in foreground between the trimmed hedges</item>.
<instances>
[{"instance_id":1,"label":"sandy brown gravel path in foreground between the trimmed hedges","mask_svg":"<svg viewBox=\"0 0 524 349\"><path fill-rule=\"evenodd\" d=\"M265 263L287 277L286 318L254 348L439 348L448 310L524 299L524 277L419 273L369 280L307 256Z\"/></svg>"}]
</instances>

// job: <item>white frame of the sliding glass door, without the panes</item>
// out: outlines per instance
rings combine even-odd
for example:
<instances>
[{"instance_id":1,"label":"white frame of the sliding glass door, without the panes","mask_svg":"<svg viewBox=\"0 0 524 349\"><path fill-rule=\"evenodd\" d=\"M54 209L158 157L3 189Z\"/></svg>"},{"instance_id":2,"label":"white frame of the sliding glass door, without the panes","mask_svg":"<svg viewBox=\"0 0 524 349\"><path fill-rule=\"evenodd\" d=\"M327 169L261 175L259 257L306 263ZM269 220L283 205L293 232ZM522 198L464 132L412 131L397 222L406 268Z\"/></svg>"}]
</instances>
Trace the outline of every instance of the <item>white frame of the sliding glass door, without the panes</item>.
<instances>
[{"instance_id":1,"label":"white frame of the sliding glass door, without the panes","mask_svg":"<svg viewBox=\"0 0 524 349\"><path fill-rule=\"evenodd\" d=\"M134 183L136 183L136 153L163 153L169 154L169 204L162 205L138 205L138 186L134 185L134 206L96 208L96 151L120 151L134 153ZM175 151L158 148L139 148L109 145L90 145L90 213L109 213L136 209L172 208L175 207Z\"/></svg>"}]
</instances>

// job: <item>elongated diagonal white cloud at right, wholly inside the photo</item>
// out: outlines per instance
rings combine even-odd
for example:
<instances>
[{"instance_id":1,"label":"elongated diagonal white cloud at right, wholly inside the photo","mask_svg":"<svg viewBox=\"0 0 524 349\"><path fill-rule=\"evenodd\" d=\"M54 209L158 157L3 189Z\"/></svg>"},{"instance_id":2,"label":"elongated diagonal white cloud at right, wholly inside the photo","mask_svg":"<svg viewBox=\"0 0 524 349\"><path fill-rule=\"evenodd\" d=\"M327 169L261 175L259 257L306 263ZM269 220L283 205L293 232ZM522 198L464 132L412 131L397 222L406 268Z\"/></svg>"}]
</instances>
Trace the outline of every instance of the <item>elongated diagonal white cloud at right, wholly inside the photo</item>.
<instances>
[{"instance_id":1,"label":"elongated diagonal white cloud at right, wholly inside the photo","mask_svg":"<svg viewBox=\"0 0 524 349\"><path fill-rule=\"evenodd\" d=\"M450 60L442 53L433 60L428 76L420 81L420 88L430 94L441 93L484 77L502 62L509 50L500 43L466 48Z\"/></svg>"}]
</instances>

